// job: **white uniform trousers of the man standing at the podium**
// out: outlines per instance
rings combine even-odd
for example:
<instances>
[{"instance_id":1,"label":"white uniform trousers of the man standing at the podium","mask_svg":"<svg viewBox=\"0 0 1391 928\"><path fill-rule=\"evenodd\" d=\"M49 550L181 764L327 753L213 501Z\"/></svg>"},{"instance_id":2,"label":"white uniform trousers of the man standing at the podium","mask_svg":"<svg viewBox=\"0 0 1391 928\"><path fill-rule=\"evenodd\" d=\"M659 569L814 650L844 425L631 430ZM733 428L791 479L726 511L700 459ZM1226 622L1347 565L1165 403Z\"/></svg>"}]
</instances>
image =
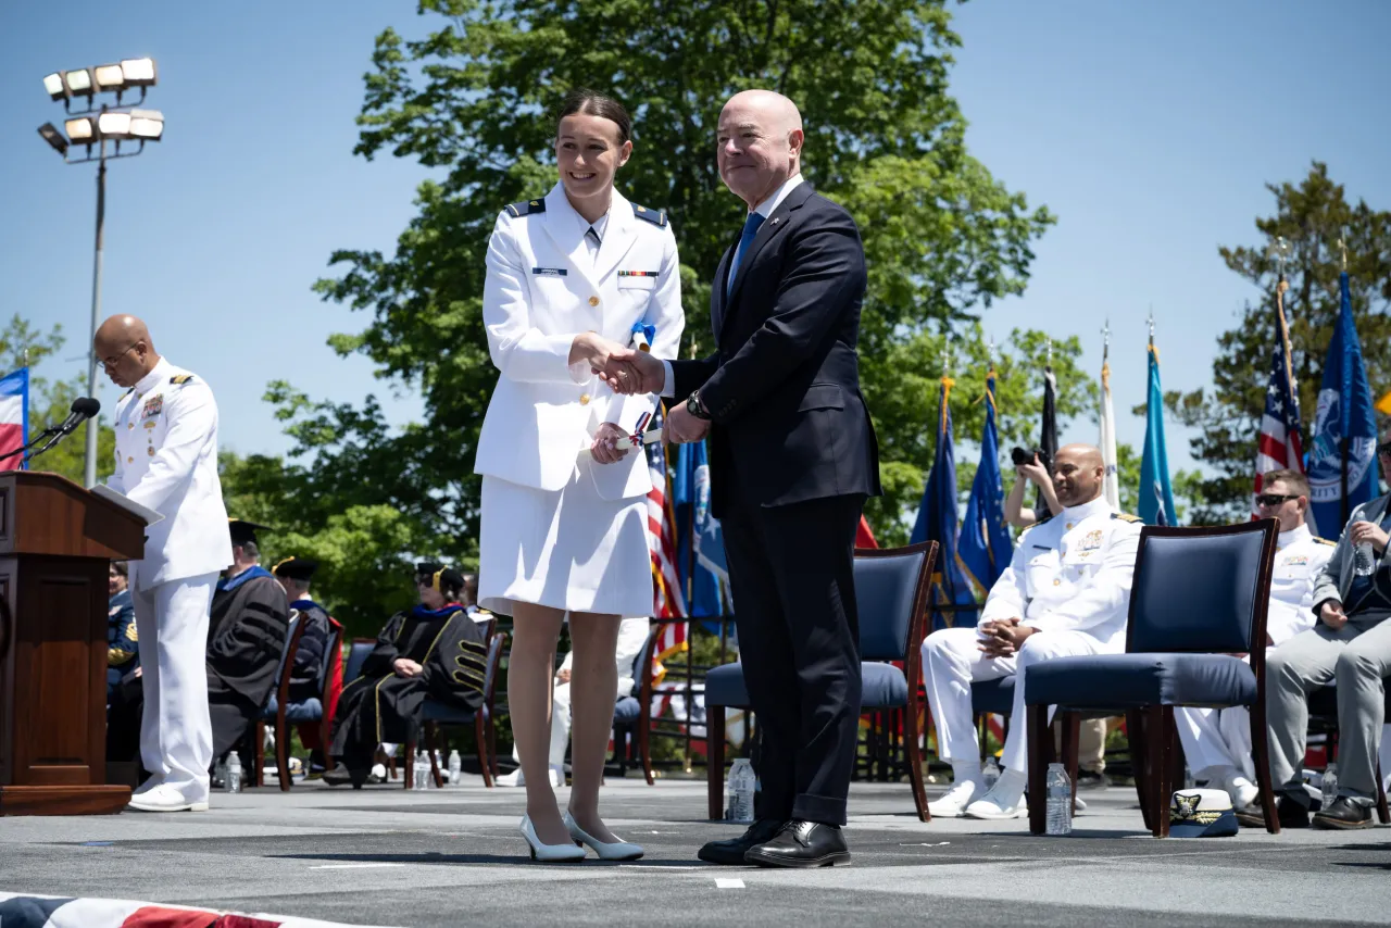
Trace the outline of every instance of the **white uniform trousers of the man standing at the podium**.
<instances>
[{"instance_id":1,"label":"white uniform trousers of the man standing at the podium","mask_svg":"<svg viewBox=\"0 0 1391 928\"><path fill-rule=\"evenodd\" d=\"M216 573L131 584L140 648L145 714L140 761L156 782L186 801L207 800L213 721L207 714L207 611Z\"/></svg>"}]
</instances>

